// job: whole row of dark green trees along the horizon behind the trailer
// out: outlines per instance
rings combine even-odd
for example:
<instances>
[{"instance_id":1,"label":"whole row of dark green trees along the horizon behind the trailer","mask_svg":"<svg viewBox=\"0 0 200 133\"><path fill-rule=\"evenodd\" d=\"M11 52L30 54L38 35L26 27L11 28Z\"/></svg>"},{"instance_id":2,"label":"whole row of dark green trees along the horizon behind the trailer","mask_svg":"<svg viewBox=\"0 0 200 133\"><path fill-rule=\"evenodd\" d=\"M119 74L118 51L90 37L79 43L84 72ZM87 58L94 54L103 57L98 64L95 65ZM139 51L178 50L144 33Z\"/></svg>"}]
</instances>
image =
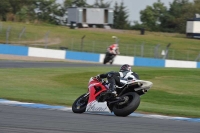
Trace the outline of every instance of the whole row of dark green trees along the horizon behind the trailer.
<instances>
[{"instance_id":1,"label":"whole row of dark green trees along the horizon behind the trailer","mask_svg":"<svg viewBox=\"0 0 200 133\"><path fill-rule=\"evenodd\" d=\"M64 0L61 4L56 0L3 0L0 2L0 20L58 24L59 17L67 13L68 7L113 8L115 29L144 28L150 31L184 33L187 19L200 13L199 0L174 0L169 7L158 0L140 11L141 22L130 22L129 11L123 1L115 2L114 7L111 4L112 1L104 0L95 0L93 4L88 4L87 0Z\"/></svg>"}]
</instances>

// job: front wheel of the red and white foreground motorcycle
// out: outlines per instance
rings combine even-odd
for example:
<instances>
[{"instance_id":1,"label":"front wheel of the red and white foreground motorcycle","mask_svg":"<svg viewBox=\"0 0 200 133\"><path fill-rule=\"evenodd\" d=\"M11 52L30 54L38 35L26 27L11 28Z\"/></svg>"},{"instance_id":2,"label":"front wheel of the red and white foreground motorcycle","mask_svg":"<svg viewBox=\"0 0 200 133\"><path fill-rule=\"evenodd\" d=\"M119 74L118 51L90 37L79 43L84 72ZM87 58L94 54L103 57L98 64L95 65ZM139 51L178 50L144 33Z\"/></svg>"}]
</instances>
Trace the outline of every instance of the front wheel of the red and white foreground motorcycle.
<instances>
[{"instance_id":1,"label":"front wheel of the red and white foreground motorcycle","mask_svg":"<svg viewBox=\"0 0 200 133\"><path fill-rule=\"evenodd\" d=\"M74 113L83 113L86 110L89 95L83 94L78 97L72 104L72 111Z\"/></svg>"}]
</instances>

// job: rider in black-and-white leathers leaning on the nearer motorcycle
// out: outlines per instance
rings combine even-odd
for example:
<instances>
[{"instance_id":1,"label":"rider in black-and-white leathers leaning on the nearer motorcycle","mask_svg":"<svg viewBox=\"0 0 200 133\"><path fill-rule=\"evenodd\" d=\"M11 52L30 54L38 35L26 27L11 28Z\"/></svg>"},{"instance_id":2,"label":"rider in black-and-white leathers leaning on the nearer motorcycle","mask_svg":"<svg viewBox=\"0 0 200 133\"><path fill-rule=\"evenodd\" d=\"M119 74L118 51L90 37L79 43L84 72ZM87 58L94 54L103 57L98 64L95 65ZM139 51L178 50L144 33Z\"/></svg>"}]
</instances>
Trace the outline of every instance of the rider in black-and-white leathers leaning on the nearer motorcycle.
<instances>
[{"instance_id":1,"label":"rider in black-and-white leathers leaning on the nearer motorcycle","mask_svg":"<svg viewBox=\"0 0 200 133\"><path fill-rule=\"evenodd\" d=\"M139 79L139 76L137 73L132 72L130 65L124 64L120 67L119 72L110 71L108 73L99 74L96 78L100 81L103 78L107 78L109 83L108 92L116 94L116 85L123 86L127 80L136 80Z\"/></svg>"}]
</instances>

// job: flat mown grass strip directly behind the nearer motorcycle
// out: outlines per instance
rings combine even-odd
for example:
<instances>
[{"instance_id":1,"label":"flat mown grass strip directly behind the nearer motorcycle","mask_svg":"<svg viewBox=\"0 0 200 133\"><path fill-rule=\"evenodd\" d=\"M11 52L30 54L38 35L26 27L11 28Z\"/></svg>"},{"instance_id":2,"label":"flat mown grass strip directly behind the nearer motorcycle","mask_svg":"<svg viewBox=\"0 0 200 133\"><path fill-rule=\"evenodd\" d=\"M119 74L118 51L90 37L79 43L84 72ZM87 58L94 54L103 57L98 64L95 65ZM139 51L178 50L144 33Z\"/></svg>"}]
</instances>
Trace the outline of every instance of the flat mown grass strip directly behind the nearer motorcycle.
<instances>
[{"instance_id":1,"label":"flat mown grass strip directly behind the nearer motorcycle","mask_svg":"<svg viewBox=\"0 0 200 133\"><path fill-rule=\"evenodd\" d=\"M0 98L71 106L91 76L118 67L0 69ZM200 70L134 67L153 82L136 112L200 117Z\"/></svg>"}]
</instances>

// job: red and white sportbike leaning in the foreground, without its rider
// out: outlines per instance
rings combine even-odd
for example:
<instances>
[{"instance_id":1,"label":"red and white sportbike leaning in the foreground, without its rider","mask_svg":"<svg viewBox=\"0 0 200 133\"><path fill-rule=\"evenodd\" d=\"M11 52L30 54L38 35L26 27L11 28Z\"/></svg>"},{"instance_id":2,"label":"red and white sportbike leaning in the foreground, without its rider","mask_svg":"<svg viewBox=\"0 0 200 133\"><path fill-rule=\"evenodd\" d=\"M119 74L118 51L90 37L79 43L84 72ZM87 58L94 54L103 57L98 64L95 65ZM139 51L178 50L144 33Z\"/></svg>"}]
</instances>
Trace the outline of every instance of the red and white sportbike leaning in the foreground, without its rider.
<instances>
[{"instance_id":1,"label":"red and white sportbike leaning in the foreground, without its rider","mask_svg":"<svg viewBox=\"0 0 200 133\"><path fill-rule=\"evenodd\" d=\"M74 113L109 112L116 116L128 116L140 104L140 96L145 94L153 83L145 80L129 80L122 87L117 87L117 95L108 93L108 83L91 77L88 92L78 97L73 105Z\"/></svg>"}]
</instances>

